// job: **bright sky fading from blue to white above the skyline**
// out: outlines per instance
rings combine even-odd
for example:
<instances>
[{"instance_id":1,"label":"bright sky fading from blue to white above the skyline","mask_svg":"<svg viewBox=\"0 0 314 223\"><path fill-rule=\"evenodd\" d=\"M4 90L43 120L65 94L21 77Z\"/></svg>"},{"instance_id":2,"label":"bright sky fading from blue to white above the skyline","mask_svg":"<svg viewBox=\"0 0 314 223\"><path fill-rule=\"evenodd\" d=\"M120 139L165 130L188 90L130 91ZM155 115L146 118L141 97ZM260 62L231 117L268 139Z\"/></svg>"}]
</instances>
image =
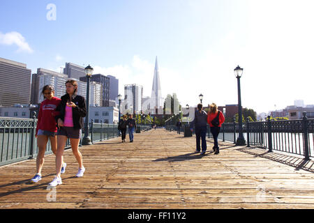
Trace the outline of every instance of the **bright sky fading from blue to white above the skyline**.
<instances>
[{"instance_id":1,"label":"bright sky fading from blue to white above the skyline","mask_svg":"<svg viewBox=\"0 0 314 223\"><path fill-rule=\"evenodd\" d=\"M269 112L313 105L313 0L1 0L0 57L60 72L66 62L140 84L151 96ZM2 81L2 80L1 80Z\"/></svg>"}]
</instances>

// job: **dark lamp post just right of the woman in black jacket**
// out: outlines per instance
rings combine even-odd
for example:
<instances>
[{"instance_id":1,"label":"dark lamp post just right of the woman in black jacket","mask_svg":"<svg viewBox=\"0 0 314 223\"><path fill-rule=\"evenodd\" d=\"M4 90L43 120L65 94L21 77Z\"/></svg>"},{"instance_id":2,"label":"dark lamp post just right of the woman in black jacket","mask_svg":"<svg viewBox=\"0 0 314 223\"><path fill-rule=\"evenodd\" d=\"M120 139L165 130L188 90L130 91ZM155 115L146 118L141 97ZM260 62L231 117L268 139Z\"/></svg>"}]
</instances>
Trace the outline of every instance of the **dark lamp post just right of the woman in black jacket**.
<instances>
[{"instance_id":1,"label":"dark lamp post just right of the woman in black jacket","mask_svg":"<svg viewBox=\"0 0 314 223\"><path fill-rule=\"evenodd\" d=\"M91 75L93 74L93 68L87 66L85 73L87 77L87 93L86 93L86 108L87 114L85 116L84 138L82 139L82 145L91 145L91 138L89 137L89 83L91 82Z\"/></svg>"}]
</instances>

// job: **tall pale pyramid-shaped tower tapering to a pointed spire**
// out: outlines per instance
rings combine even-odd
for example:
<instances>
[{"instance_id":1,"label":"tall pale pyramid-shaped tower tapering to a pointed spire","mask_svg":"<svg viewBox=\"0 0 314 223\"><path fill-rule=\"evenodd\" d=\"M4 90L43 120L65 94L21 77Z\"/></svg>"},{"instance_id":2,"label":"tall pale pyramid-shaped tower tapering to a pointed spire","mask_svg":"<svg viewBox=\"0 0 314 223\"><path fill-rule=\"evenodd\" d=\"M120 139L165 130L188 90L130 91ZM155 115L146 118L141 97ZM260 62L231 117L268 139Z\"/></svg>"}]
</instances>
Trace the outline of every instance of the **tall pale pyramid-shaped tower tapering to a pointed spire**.
<instances>
[{"instance_id":1,"label":"tall pale pyramid-shaped tower tapering to a pointed spire","mask_svg":"<svg viewBox=\"0 0 314 223\"><path fill-rule=\"evenodd\" d=\"M156 56L153 88L151 89L151 109L154 109L154 111L156 111L156 109L159 109L162 105L163 98L161 95L158 61Z\"/></svg>"}]
</instances>

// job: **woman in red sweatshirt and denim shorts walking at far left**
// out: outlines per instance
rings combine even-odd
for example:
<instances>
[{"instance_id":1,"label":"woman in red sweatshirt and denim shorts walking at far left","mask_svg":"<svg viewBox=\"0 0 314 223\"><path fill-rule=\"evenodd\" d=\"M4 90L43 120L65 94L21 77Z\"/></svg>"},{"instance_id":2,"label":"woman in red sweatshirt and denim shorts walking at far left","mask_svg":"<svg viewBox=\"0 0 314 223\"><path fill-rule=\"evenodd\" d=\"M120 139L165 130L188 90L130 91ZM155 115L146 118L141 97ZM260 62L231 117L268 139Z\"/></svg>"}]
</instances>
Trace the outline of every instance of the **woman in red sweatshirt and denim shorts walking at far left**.
<instances>
[{"instance_id":1,"label":"woman in red sweatshirt and denim shorts walking at far left","mask_svg":"<svg viewBox=\"0 0 314 223\"><path fill-rule=\"evenodd\" d=\"M37 183L41 180L41 169L45 162L45 151L48 139L52 153L57 155L57 123L54 116L58 114L55 109L61 102L60 98L54 97L54 88L50 85L45 85L41 91L43 94L43 102L40 103L38 112L38 122L36 127L35 137L37 138L38 155L36 157L36 175L31 179L32 183ZM63 163L63 160L61 160ZM66 163L63 163L61 174L66 171Z\"/></svg>"}]
</instances>

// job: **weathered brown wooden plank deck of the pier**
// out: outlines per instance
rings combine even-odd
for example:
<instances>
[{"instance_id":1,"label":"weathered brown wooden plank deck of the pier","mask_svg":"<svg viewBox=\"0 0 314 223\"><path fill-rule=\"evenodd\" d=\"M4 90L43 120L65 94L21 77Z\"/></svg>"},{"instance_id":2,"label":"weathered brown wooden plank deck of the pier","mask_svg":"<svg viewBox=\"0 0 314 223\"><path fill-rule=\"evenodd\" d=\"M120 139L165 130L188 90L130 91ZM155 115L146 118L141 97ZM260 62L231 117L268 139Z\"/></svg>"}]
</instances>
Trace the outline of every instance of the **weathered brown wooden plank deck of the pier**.
<instances>
[{"instance_id":1,"label":"weathered brown wooden plank deck of the pier","mask_svg":"<svg viewBox=\"0 0 314 223\"><path fill-rule=\"evenodd\" d=\"M36 159L0 167L0 208L314 208L311 161L227 142L214 155L211 139L202 157L195 137L163 129L126 139L80 148L82 178L74 177L77 162L67 150L63 184L54 191L47 190L53 154L36 184L29 183Z\"/></svg>"}]
</instances>

